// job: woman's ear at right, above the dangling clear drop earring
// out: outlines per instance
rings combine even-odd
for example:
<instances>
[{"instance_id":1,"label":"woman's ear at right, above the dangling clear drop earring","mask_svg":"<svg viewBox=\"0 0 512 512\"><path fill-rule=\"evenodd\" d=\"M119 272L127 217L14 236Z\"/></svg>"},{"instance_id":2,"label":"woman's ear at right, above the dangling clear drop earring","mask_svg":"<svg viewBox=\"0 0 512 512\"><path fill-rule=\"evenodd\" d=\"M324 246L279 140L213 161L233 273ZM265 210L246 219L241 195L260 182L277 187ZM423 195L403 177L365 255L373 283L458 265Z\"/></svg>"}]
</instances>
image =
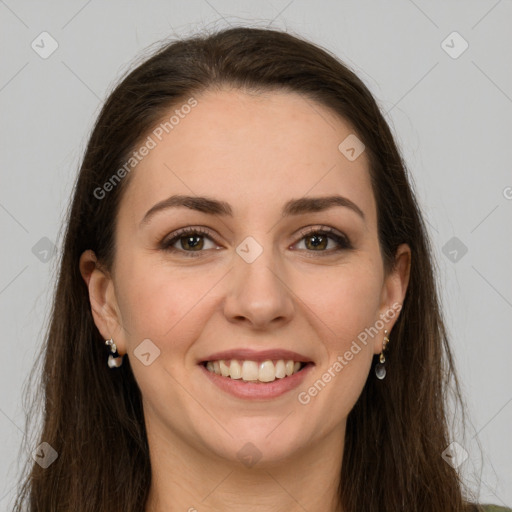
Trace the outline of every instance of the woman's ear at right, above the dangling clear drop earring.
<instances>
[{"instance_id":1,"label":"woman's ear at right, above the dangling clear drop earring","mask_svg":"<svg viewBox=\"0 0 512 512\"><path fill-rule=\"evenodd\" d=\"M395 266L386 276L382 287L379 318L384 323L383 331L390 335L393 326L398 320L402 305L409 285L411 273L411 249L407 244L401 244L395 253ZM382 336L375 337L374 353L382 352L384 332Z\"/></svg>"}]
</instances>

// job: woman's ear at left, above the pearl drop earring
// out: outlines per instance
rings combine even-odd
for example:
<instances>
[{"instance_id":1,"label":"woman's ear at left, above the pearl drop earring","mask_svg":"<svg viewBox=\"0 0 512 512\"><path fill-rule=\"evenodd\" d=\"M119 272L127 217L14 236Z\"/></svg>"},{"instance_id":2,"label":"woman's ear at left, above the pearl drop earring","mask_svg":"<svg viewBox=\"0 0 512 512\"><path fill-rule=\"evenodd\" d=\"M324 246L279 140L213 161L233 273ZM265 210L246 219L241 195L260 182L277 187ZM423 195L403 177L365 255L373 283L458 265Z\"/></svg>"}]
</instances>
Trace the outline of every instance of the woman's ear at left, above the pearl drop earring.
<instances>
[{"instance_id":1,"label":"woman's ear at left, above the pearl drop earring","mask_svg":"<svg viewBox=\"0 0 512 512\"><path fill-rule=\"evenodd\" d=\"M112 338L119 355L126 353L124 331L110 274L99 265L93 251L80 256L80 273L89 290L91 311L96 327L105 340Z\"/></svg>"}]
</instances>

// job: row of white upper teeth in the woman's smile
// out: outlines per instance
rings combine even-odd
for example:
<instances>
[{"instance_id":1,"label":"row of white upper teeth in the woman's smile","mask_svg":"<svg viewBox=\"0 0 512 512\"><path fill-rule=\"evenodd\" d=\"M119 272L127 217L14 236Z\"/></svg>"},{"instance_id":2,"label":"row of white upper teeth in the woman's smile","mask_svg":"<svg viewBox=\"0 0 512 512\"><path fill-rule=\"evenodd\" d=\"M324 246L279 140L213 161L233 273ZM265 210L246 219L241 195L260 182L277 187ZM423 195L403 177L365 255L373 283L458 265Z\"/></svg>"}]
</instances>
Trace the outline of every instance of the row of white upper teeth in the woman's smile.
<instances>
[{"instance_id":1,"label":"row of white upper teeth in the woman's smile","mask_svg":"<svg viewBox=\"0 0 512 512\"><path fill-rule=\"evenodd\" d=\"M220 361L208 361L206 368L210 372L230 377L232 379L242 379L245 381L272 382L276 379L282 379L297 373L302 364L291 359L285 361L237 361L236 359Z\"/></svg>"}]
</instances>

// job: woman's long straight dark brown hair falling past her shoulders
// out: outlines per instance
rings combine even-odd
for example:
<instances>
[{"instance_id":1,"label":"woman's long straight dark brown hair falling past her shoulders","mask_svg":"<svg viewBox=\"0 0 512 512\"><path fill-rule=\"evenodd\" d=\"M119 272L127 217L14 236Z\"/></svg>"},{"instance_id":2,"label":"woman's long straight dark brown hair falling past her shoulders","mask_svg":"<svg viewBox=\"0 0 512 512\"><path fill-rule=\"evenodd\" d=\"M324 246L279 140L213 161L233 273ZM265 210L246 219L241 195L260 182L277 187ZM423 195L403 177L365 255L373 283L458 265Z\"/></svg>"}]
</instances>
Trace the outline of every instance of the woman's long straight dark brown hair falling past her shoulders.
<instances>
[{"instance_id":1,"label":"woman's long straight dark brown hair falling past her shoulders","mask_svg":"<svg viewBox=\"0 0 512 512\"><path fill-rule=\"evenodd\" d=\"M348 121L370 159L386 272L400 244L412 251L409 287L387 351L388 375L378 381L370 373L347 419L339 489L344 510L469 510L457 471L441 456L451 442L449 390L463 415L464 403L428 233L390 128L367 87L329 51L290 33L244 27L166 42L103 106L74 187L39 356L34 403L43 406L43 424L34 446L46 442L58 458L46 469L29 461L15 510L25 503L42 512L144 510L151 468L140 390L128 358L116 371L107 367L78 262L92 249L111 268L116 215L130 176L103 200L94 190L173 106L224 85L297 92Z\"/></svg>"}]
</instances>

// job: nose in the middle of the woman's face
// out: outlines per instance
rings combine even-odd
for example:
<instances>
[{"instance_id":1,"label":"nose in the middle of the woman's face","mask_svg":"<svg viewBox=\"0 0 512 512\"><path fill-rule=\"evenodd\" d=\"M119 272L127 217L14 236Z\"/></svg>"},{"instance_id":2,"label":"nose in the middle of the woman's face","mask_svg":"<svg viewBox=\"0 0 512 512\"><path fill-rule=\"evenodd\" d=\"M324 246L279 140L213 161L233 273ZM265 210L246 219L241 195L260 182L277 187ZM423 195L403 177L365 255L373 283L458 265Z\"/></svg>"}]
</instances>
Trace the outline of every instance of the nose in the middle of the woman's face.
<instances>
[{"instance_id":1,"label":"nose in the middle of the woman's face","mask_svg":"<svg viewBox=\"0 0 512 512\"><path fill-rule=\"evenodd\" d=\"M252 329L282 327L294 314L293 292L283 266L271 248L252 262L236 254L226 283L224 314L231 323L246 323Z\"/></svg>"}]
</instances>

